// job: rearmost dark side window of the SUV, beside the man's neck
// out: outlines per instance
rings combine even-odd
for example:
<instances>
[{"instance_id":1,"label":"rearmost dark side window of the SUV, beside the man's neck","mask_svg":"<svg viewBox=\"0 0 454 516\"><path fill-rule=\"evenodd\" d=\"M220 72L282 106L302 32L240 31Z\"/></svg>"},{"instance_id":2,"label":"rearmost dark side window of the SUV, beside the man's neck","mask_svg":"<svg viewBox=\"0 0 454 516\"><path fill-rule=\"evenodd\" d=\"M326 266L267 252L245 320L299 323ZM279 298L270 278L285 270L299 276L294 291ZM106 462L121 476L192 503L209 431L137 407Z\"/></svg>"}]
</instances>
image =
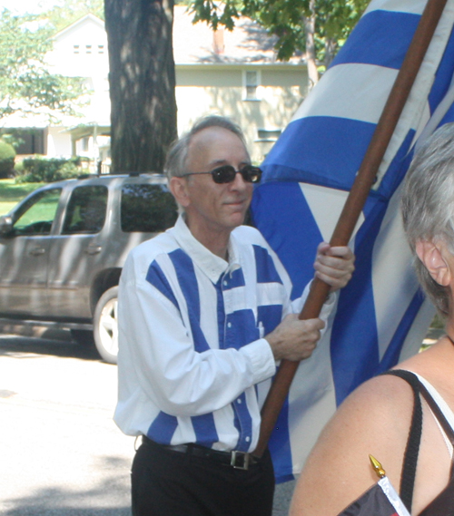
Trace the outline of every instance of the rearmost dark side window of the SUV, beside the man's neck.
<instances>
[{"instance_id":1,"label":"rearmost dark side window of the SUV, beside the man's neck","mask_svg":"<svg viewBox=\"0 0 454 516\"><path fill-rule=\"evenodd\" d=\"M122 230L157 233L172 228L178 209L165 185L125 184L122 189Z\"/></svg>"}]
</instances>

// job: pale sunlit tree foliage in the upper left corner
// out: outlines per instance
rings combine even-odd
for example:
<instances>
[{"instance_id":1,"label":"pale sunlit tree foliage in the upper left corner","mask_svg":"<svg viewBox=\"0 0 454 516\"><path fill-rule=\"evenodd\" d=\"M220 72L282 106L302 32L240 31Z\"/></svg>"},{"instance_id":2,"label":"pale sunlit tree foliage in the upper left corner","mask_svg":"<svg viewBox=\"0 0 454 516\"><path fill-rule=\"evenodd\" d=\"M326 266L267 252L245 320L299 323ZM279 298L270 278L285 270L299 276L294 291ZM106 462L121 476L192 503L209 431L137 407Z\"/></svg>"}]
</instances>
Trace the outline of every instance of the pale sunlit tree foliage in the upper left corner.
<instances>
[{"instance_id":1,"label":"pale sunlit tree foliage in the upper left corner","mask_svg":"<svg viewBox=\"0 0 454 516\"><path fill-rule=\"evenodd\" d=\"M44 56L52 48L51 30L36 16L0 15L0 118L15 112L74 113L83 81L49 73ZM49 112L51 110L51 112Z\"/></svg>"}]
</instances>

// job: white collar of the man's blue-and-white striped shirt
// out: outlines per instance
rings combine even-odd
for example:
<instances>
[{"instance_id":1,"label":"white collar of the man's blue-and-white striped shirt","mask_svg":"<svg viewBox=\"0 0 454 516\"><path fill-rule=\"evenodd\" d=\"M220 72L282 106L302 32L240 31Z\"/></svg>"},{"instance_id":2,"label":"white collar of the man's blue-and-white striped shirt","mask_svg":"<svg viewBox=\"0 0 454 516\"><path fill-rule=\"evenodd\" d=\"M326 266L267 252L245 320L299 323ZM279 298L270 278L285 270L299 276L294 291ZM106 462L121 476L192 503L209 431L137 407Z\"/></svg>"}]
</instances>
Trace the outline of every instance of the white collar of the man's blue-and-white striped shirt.
<instances>
[{"instance_id":1,"label":"white collar of the man's blue-and-white striped shirt","mask_svg":"<svg viewBox=\"0 0 454 516\"><path fill-rule=\"evenodd\" d=\"M213 283L219 280L225 272L240 268L238 261L238 245L236 239L231 234L229 239L228 254L229 261L216 256L208 248L205 248L199 240L192 236L190 229L184 220L184 214L180 215L175 226L171 229L174 239L178 245L186 252L192 261L202 269L202 271L211 279Z\"/></svg>"}]
</instances>

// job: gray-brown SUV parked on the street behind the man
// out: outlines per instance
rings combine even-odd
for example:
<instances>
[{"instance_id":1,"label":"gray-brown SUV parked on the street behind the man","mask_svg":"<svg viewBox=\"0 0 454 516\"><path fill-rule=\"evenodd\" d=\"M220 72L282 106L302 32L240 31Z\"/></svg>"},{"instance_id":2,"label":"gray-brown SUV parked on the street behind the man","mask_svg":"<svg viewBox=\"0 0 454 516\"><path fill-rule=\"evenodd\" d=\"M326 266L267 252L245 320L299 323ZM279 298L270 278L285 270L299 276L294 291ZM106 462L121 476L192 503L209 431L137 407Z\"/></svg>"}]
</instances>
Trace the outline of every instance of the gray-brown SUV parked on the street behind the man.
<instances>
[{"instance_id":1,"label":"gray-brown SUV parked on the street behind the man","mask_svg":"<svg viewBox=\"0 0 454 516\"><path fill-rule=\"evenodd\" d=\"M173 226L159 174L49 183L0 218L0 323L69 328L115 363L117 286L129 251ZM93 334L92 334L93 332Z\"/></svg>"}]
</instances>

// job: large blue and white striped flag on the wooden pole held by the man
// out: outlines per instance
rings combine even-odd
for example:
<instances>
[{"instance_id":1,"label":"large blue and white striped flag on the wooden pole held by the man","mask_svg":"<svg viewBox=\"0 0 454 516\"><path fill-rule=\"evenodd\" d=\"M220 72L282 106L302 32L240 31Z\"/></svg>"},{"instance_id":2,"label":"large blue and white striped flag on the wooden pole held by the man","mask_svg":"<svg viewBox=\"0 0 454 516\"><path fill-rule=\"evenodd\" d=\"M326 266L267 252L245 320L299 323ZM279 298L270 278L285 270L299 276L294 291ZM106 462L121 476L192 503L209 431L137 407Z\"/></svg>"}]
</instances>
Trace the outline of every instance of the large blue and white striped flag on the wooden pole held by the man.
<instances>
[{"instance_id":1,"label":"large blue and white striped flag on the wooden pole held by the man","mask_svg":"<svg viewBox=\"0 0 454 516\"><path fill-rule=\"evenodd\" d=\"M301 295L315 250L330 241L426 1L374 0L262 164L252 217ZM415 147L454 121L454 0L448 0L355 230L356 271L329 331L301 362L270 442L291 480L336 406L416 353L434 309L422 296L401 226L402 179Z\"/></svg>"}]
</instances>

